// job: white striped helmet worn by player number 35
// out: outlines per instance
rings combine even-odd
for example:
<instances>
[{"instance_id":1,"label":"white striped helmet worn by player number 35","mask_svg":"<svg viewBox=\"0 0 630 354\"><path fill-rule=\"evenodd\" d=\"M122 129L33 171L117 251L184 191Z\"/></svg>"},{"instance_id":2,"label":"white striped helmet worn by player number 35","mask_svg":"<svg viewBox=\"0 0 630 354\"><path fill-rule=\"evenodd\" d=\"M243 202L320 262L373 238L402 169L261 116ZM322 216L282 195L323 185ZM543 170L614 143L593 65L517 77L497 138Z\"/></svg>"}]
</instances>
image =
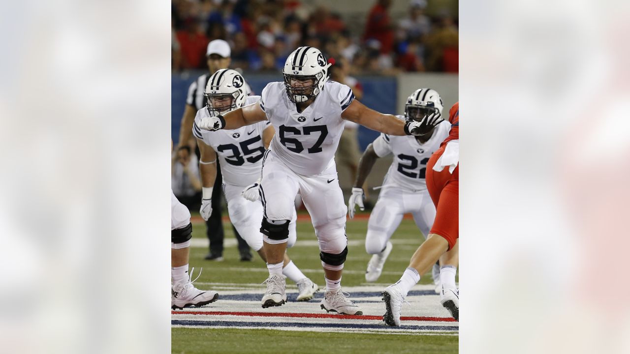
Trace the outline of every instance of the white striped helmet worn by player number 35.
<instances>
[{"instance_id":1,"label":"white striped helmet worn by player number 35","mask_svg":"<svg viewBox=\"0 0 630 354\"><path fill-rule=\"evenodd\" d=\"M210 115L224 115L241 108L247 96L244 85L243 75L236 70L220 69L212 74L203 91Z\"/></svg>"}]
</instances>

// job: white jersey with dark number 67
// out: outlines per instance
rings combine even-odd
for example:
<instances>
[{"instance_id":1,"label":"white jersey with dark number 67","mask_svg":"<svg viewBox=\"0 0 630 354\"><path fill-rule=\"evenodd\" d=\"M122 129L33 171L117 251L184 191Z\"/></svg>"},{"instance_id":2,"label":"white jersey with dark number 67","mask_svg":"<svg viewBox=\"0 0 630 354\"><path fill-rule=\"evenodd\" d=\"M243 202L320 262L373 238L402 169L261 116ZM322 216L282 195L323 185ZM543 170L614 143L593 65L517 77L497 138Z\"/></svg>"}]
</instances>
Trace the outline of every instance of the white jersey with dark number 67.
<instances>
[{"instance_id":1,"label":"white jersey with dark number 67","mask_svg":"<svg viewBox=\"0 0 630 354\"><path fill-rule=\"evenodd\" d=\"M263 89L260 108L275 128L270 150L298 174L319 174L334 163L343 132L343 112L354 100L352 89L335 81L324 83L314 102L299 113L284 83Z\"/></svg>"}]
</instances>

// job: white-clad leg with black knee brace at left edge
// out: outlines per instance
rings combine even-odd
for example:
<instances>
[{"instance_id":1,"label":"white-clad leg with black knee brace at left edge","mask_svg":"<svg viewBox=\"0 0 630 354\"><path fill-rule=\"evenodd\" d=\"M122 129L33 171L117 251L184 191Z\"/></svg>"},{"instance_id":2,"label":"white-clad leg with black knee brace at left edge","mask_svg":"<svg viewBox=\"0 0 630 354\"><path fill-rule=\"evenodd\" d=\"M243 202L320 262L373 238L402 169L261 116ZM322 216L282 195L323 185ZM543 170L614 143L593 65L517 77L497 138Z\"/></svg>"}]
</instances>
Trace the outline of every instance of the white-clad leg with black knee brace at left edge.
<instances>
[{"instance_id":1,"label":"white-clad leg with black knee brace at left edge","mask_svg":"<svg viewBox=\"0 0 630 354\"><path fill-rule=\"evenodd\" d=\"M192 229L188 208L177 200L171 190L171 308L173 310L188 306L199 307L219 299L219 294L215 291L195 288L193 282L196 279L191 280L188 273Z\"/></svg>"}]
</instances>

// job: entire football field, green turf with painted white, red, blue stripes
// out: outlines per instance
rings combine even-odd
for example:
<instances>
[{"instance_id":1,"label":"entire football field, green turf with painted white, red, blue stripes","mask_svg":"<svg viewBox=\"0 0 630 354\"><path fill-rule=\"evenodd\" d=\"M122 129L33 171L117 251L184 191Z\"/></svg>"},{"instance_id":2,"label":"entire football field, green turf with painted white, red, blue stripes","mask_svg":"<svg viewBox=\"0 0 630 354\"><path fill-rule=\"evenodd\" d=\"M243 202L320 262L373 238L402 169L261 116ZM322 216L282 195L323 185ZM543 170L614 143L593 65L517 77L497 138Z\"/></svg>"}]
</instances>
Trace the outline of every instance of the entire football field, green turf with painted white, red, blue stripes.
<instances>
[{"instance_id":1,"label":"entire football field, green turf with painted white, red, blue stripes","mask_svg":"<svg viewBox=\"0 0 630 354\"><path fill-rule=\"evenodd\" d=\"M219 292L219 300L205 307L172 311L171 348L173 353L457 353L457 322L439 303L430 273L408 294L403 305L403 326L389 327L382 321L385 312L382 289L396 282L423 237L413 220L405 218L392 236L394 249L377 283L365 282L367 214L348 220L348 259L342 286L350 299L364 310L363 316L327 314L320 309L324 273L319 249L307 214L297 222L297 243L289 256L304 275L319 285L314 299L295 302L297 287L287 279L287 304L263 309L261 284L267 277L265 263L258 254L251 262L239 260L236 239L229 222L222 262L205 261L208 241L205 224L193 215L193 243L190 267L203 268L195 282L200 289Z\"/></svg>"}]
</instances>

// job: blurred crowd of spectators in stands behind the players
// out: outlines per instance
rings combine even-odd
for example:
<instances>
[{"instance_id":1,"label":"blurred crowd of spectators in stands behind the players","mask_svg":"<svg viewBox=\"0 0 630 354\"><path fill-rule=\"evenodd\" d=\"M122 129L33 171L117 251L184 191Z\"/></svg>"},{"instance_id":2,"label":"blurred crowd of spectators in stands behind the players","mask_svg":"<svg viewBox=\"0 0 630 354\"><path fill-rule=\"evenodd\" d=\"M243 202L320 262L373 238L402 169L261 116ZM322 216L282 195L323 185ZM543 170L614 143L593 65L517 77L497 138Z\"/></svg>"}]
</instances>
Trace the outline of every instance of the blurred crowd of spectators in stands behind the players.
<instances>
[{"instance_id":1,"label":"blurred crowd of spectators in stands behind the players","mask_svg":"<svg viewBox=\"0 0 630 354\"><path fill-rule=\"evenodd\" d=\"M364 23L346 21L323 4L299 0L173 0L172 69L204 69L210 40L232 47L232 67L278 72L301 45L350 64L348 74L404 71L457 72L457 18L429 16L427 0L410 0L392 18L391 0L362 1ZM352 26L348 23L353 23Z\"/></svg>"}]
</instances>

